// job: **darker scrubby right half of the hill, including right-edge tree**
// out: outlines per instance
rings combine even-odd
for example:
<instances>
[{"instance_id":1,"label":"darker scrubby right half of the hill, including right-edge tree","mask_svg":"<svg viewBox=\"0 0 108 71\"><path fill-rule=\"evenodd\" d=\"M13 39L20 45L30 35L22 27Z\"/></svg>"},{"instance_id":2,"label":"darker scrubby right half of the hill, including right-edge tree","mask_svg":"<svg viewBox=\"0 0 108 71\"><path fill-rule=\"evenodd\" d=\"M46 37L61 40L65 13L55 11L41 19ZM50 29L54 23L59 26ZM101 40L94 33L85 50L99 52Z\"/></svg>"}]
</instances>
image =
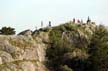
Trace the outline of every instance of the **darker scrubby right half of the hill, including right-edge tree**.
<instances>
[{"instance_id":1,"label":"darker scrubby right half of the hill, including right-edge tree","mask_svg":"<svg viewBox=\"0 0 108 71\"><path fill-rule=\"evenodd\" d=\"M66 23L52 28L49 33L50 47L46 50L48 58L46 64L49 69L54 71L108 70L108 31L102 25L95 27L95 31L90 25L89 30L85 30L82 26Z\"/></svg>"}]
</instances>

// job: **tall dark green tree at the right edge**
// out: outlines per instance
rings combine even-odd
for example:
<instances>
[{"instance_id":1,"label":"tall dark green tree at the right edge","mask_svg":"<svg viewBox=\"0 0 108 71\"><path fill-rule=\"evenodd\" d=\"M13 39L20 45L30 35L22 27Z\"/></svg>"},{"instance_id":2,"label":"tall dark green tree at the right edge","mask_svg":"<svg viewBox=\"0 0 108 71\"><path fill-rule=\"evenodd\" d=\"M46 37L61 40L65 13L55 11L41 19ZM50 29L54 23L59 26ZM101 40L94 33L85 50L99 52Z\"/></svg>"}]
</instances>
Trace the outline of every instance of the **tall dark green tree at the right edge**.
<instances>
[{"instance_id":1,"label":"tall dark green tree at the right edge","mask_svg":"<svg viewBox=\"0 0 108 71\"><path fill-rule=\"evenodd\" d=\"M104 26L96 28L89 48L90 71L108 71L108 31Z\"/></svg>"}]
</instances>

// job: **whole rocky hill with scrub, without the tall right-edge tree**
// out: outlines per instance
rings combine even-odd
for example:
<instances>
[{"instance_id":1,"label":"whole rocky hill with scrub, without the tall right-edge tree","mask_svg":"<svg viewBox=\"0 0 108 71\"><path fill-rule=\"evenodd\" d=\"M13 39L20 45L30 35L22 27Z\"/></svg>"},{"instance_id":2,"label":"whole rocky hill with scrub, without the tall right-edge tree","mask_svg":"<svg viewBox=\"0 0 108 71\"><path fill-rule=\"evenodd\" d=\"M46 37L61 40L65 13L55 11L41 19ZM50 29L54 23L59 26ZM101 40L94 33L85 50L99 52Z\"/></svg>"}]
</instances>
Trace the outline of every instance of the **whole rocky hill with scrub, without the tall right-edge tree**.
<instances>
[{"instance_id":1,"label":"whole rocky hill with scrub, without the tall right-edge tree","mask_svg":"<svg viewBox=\"0 0 108 71\"><path fill-rule=\"evenodd\" d=\"M81 66L86 63L73 65L72 61L77 64L77 60L90 57L88 48L101 27L104 29L94 22L67 22L18 35L0 35L0 71L84 71Z\"/></svg>"}]
</instances>

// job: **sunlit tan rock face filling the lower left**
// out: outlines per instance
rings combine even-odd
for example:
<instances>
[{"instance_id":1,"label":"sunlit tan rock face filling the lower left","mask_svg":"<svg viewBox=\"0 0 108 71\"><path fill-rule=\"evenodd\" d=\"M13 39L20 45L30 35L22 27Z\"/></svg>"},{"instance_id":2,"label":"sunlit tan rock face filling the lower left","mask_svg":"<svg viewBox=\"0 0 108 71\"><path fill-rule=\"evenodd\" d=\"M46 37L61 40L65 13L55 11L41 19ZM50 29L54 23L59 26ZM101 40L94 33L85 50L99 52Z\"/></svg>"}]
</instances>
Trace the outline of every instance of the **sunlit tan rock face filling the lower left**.
<instances>
[{"instance_id":1,"label":"sunlit tan rock face filling the lower left","mask_svg":"<svg viewBox=\"0 0 108 71\"><path fill-rule=\"evenodd\" d=\"M0 71L47 71L47 45L31 33L27 30L19 35L0 35Z\"/></svg>"}]
</instances>

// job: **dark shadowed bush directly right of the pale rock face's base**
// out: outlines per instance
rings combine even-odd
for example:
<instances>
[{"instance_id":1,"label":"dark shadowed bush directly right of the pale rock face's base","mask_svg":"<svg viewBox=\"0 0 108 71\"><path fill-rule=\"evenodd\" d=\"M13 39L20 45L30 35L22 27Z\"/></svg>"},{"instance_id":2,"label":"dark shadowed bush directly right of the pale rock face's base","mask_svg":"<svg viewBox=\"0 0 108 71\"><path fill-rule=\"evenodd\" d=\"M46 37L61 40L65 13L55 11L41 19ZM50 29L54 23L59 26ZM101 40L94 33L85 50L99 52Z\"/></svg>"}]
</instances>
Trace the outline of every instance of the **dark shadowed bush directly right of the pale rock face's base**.
<instances>
[{"instance_id":1,"label":"dark shadowed bush directly right of the pale rock face's base","mask_svg":"<svg viewBox=\"0 0 108 71\"><path fill-rule=\"evenodd\" d=\"M67 52L72 51L71 48L60 47L59 44L56 47L50 47L46 50L46 56L48 57L48 65L53 69L58 70L59 66L63 63L63 55Z\"/></svg>"}]
</instances>

